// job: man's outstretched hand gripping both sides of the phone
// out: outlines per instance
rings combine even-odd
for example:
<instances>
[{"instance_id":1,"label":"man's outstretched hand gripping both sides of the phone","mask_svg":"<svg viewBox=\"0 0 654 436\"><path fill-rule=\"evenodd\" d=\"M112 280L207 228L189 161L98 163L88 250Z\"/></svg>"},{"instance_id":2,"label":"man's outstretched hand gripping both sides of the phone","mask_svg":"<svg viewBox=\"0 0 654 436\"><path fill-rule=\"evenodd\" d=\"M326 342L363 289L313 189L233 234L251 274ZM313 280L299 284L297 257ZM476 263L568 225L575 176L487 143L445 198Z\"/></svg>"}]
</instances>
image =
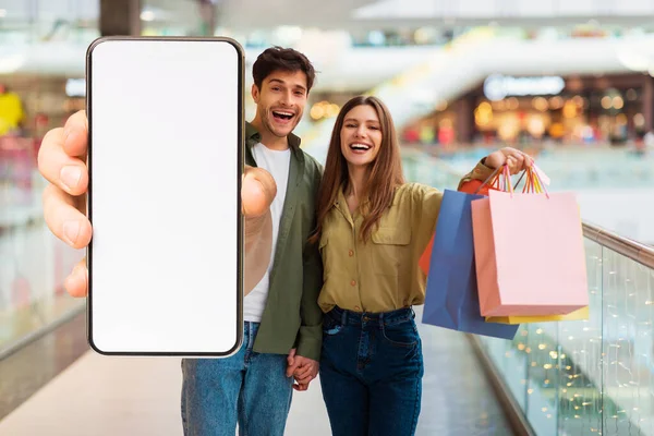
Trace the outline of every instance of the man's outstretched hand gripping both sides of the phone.
<instances>
[{"instance_id":1,"label":"man's outstretched hand gripping both sides of the phone","mask_svg":"<svg viewBox=\"0 0 654 436\"><path fill-rule=\"evenodd\" d=\"M70 117L63 129L48 132L38 154L39 171L50 182L43 197L46 222L57 238L74 249L85 249L93 233L86 217L87 138L86 113L80 111ZM267 261L261 259L270 256L269 206L276 194L275 180L267 171L245 167L241 187L245 218L244 293L261 280L268 265ZM86 296L88 271L85 259L68 276L65 288L72 296Z\"/></svg>"}]
</instances>

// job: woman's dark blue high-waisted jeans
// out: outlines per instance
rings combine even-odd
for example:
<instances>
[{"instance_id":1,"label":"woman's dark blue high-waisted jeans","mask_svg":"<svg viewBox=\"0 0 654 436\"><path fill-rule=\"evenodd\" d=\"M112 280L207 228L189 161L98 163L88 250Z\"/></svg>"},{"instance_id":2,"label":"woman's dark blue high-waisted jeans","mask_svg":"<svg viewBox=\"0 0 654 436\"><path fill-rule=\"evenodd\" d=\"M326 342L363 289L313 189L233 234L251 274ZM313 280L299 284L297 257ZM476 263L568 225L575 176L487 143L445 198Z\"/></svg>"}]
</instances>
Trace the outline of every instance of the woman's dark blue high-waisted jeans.
<instances>
[{"instance_id":1,"label":"woman's dark blue high-waisted jeans","mask_svg":"<svg viewBox=\"0 0 654 436\"><path fill-rule=\"evenodd\" d=\"M411 308L325 314L320 386L334 436L415 433L424 367L414 317Z\"/></svg>"}]
</instances>

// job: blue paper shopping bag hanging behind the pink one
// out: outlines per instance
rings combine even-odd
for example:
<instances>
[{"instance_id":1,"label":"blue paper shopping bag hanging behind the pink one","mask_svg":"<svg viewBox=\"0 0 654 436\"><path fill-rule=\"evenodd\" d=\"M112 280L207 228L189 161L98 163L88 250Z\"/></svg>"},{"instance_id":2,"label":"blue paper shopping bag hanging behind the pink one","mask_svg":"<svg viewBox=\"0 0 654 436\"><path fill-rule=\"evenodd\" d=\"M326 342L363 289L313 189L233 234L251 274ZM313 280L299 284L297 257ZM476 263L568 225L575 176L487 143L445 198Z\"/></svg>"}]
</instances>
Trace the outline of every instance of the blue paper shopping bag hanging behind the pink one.
<instances>
[{"instance_id":1,"label":"blue paper shopping bag hanging behind the pink one","mask_svg":"<svg viewBox=\"0 0 654 436\"><path fill-rule=\"evenodd\" d=\"M423 324L513 339L519 325L486 323L480 312L470 203L483 197L444 192L432 246Z\"/></svg>"}]
</instances>

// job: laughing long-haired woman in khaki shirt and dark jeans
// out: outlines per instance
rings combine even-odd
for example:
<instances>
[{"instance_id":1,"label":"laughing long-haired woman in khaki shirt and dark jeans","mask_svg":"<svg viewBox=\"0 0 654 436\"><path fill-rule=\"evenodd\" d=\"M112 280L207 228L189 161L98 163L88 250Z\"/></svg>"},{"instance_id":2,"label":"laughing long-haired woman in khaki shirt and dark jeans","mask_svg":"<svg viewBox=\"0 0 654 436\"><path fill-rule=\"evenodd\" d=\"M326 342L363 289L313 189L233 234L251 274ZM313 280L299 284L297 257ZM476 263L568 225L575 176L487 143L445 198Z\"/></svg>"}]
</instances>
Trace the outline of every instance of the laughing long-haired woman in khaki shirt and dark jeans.
<instances>
[{"instance_id":1,"label":"laughing long-haired woman in khaki shirt and dark jeans","mask_svg":"<svg viewBox=\"0 0 654 436\"><path fill-rule=\"evenodd\" d=\"M505 162L504 148L460 184L473 191ZM405 183L392 119L375 97L340 111L318 194L318 243L325 312L320 383L335 436L413 435L421 405L423 358L411 308L423 304L419 258L438 218L441 193Z\"/></svg>"}]
</instances>

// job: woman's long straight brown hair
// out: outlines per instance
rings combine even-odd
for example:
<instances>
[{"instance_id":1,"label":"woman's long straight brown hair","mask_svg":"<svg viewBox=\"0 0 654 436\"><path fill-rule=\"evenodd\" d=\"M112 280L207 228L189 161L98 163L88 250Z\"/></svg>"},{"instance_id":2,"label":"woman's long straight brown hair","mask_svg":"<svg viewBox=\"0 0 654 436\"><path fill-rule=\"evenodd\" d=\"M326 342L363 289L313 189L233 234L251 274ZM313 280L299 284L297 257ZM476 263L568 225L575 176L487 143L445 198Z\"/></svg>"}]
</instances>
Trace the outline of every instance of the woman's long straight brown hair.
<instances>
[{"instance_id":1,"label":"woman's long straight brown hair","mask_svg":"<svg viewBox=\"0 0 654 436\"><path fill-rule=\"evenodd\" d=\"M334 202L336 202L340 186L343 185L344 193L350 187L348 161L341 152L340 135L346 116L353 108L361 105L368 105L375 109L382 126L379 152L377 158L368 166L367 183L363 189L360 202L360 205L363 205L366 199L368 202L366 207L361 210L364 216L361 239L364 242L370 239L373 227L378 225L382 215L392 203L396 187L404 183L400 147L388 108L382 100L373 96L358 96L350 99L340 110L331 132L325 171L316 203L317 227L310 238L312 243L319 240L325 218Z\"/></svg>"}]
</instances>

